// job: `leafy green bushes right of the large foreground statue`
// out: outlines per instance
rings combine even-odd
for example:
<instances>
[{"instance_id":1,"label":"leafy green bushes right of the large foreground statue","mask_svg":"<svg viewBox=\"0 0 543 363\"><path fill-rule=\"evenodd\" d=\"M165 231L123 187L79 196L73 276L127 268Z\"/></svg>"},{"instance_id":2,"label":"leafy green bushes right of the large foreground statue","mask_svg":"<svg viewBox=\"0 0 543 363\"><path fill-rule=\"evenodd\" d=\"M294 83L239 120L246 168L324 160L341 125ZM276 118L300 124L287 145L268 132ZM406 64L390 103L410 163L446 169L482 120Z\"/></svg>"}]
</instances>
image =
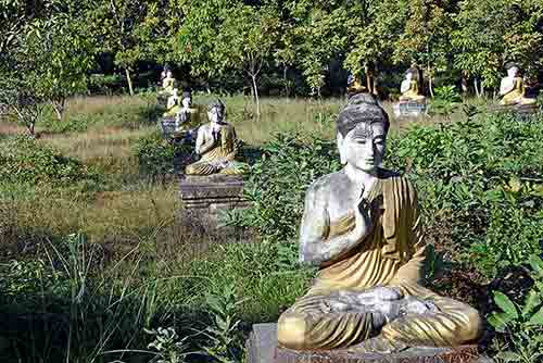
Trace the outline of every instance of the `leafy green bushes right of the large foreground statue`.
<instances>
[{"instance_id":1,"label":"leafy green bushes right of the large foreground statue","mask_svg":"<svg viewBox=\"0 0 543 363\"><path fill-rule=\"evenodd\" d=\"M427 227L445 224L442 242L494 277L541 251L542 148L541 120L483 114L393 138L389 164L416 183Z\"/></svg>"}]
</instances>

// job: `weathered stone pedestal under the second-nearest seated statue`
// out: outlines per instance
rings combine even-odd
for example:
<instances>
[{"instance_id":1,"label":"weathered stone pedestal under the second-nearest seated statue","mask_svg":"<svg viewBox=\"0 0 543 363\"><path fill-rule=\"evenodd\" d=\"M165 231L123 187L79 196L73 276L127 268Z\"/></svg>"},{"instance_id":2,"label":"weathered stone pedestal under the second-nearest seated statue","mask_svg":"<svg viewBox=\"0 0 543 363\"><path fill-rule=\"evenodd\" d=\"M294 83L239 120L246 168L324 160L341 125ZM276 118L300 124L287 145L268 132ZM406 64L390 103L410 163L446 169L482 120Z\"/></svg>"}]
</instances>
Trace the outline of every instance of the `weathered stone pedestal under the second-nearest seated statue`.
<instances>
[{"instance_id":1,"label":"weathered stone pedestal under the second-nearest seated statue","mask_svg":"<svg viewBox=\"0 0 543 363\"><path fill-rule=\"evenodd\" d=\"M179 189L184 223L205 231L219 227L220 213L249 205L243 198L243 178L238 175L182 175Z\"/></svg>"}]
</instances>

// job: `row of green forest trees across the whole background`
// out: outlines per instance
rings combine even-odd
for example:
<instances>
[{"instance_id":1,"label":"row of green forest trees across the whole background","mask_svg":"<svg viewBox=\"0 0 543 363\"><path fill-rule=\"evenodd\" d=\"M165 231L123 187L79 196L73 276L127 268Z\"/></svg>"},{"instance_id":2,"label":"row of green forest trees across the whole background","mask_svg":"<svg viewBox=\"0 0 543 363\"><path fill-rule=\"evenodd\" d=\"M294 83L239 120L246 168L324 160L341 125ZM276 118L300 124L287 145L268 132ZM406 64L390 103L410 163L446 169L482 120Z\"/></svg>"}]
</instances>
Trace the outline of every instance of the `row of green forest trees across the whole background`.
<instances>
[{"instance_id":1,"label":"row of green forest trees across the whole background","mask_svg":"<svg viewBox=\"0 0 543 363\"><path fill-rule=\"evenodd\" d=\"M153 87L163 65L181 88L256 103L339 95L348 72L393 99L413 63L429 96L438 83L493 97L507 61L532 93L543 77L539 0L2 0L0 29L3 103L26 92L58 117L76 93Z\"/></svg>"}]
</instances>

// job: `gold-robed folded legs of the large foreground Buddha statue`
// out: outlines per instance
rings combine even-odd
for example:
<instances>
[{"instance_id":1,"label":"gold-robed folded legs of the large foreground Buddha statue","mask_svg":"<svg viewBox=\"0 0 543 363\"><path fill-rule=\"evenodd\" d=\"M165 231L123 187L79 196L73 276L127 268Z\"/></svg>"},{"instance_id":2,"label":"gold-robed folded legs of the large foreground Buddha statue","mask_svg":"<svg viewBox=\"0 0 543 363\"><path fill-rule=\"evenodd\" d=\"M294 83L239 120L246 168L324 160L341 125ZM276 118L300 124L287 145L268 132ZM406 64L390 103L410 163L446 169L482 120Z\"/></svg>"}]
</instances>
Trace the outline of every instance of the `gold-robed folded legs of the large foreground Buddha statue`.
<instances>
[{"instance_id":1,"label":"gold-robed folded legs of the large foreground Buddha statue","mask_svg":"<svg viewBox=\"0 0 543 363\"><path fill-rule=\"evenodd\" d=\"M384 326L379 322L379 313L330 313L323 309L327 297L305 297L279 318L279 343L296 350L350 347L350 350L386 352L409 346L454 347L480 336L481 320L475 309L421 287L417 290L421 299L430 299L439 311L401 316Z\"/></svg>"}]
</instances>

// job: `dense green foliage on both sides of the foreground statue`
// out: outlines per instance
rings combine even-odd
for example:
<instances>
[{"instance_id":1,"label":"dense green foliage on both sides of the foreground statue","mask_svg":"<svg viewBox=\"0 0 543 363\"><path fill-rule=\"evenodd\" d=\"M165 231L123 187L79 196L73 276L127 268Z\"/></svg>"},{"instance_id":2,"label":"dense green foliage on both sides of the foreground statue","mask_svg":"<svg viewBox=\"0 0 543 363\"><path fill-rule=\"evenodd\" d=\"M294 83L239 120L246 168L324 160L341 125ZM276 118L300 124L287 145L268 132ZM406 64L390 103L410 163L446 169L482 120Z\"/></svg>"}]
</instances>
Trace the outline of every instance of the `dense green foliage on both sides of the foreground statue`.
<instances>
[{"instance_id":1,"label":"dense green foliage on both sides of the foreground statue","mask_svg":"<svg viewBox=\"0 0 543 363\"><path fill-rule=\"evenodd\" d=\"M541 251L543 126L513 115L418 126L389 140L388 165L420 195L430 242L456 251L496 277ZM303 196L316 177L339 168L331 141L279 136L253 166L247 196L253 208L230 223L253 226L275 241L298 236ZM445 228L446 230L444 230Z\"/></svg>"}]
</instances>

